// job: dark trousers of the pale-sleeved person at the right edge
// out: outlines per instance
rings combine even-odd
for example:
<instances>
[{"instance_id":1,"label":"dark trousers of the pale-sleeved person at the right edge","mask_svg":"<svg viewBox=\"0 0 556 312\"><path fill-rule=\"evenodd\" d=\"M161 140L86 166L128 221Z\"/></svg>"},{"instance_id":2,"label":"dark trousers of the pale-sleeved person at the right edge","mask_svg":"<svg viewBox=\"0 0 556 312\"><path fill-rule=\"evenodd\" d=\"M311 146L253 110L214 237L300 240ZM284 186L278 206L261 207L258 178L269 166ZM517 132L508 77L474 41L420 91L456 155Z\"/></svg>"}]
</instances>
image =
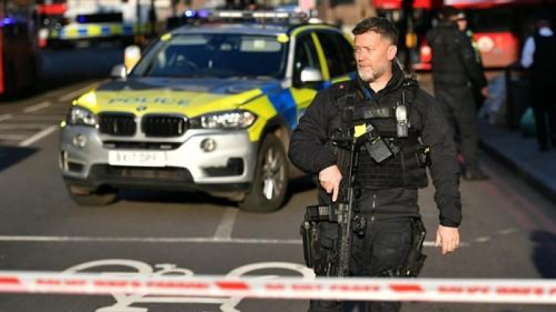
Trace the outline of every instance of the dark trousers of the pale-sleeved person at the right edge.
<instances>
[{"instance_id":1,"label":"dark trousers of the pale-sleeved person at the right edge","mask_svg":"<svg viewBox=\"0 0 556 312\"><path fill-rule=\"evenodd\" d=\"M550 83L532 83L532 108L539 147L547 148L548 136L556 148L556 100Z\"/></svg>"}]
</instances>

